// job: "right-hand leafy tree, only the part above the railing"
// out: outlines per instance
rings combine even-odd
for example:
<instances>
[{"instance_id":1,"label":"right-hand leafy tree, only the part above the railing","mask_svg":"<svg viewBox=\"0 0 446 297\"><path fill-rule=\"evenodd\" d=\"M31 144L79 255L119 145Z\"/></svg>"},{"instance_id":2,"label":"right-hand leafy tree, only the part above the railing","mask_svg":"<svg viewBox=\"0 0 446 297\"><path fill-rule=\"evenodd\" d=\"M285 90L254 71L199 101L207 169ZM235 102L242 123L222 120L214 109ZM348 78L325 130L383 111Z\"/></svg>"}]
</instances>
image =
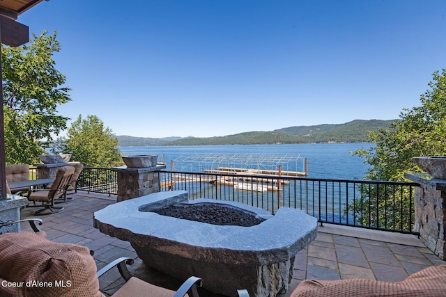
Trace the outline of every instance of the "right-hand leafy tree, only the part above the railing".
<instances>
[{"instance_id":1,"label":"right-hand leafy tree, only the part above the railing","mask_svg":"<svg viewBox=\"0 0 446 297\"><path fill-rule=\"evenodd\" d=\"M369 135L376 147L357 150L371 165L367 179L406 181L404 172L420 172L414 156L446 154L446 72L434 72L430 90L421 95L421 106L404 109L391 129Z\"/></svg>"}]
</instances>

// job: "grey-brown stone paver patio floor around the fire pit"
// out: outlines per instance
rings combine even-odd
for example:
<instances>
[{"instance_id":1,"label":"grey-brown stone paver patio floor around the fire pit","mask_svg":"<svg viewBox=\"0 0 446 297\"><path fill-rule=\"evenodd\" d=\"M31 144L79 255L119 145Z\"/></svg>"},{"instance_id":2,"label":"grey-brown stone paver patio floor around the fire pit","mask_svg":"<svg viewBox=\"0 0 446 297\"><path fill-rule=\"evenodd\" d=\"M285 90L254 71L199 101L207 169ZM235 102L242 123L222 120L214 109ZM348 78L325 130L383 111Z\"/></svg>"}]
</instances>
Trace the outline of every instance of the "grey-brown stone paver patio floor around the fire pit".
<instances>
[{"instance_id":1,"label":"grey-brown stone paver patio floor around the fire pit","mask_svg":"<svg viewBox=\"0 0 446 297\"><path fill-rule=\"evenodd\" d=\"M168 289L178 289L183 280L147 268L130 243L93 228L93 213L116 203L116 195L79 191L69 197L74 200L59 204L65 207L63 211L38 216L43 220L40 227L47 232L49 239L76 243L94 250L93 257L98 269L118 257L132 257L134 264L128 267L137 278ZM36 208L25 208L21 211L21 217L33 217L33 211ZM31 230L28 223L22 223L21 228L22 231ZM368 278L398 282L422 268L442 264L446 262L434 255L416 236L324 224L318 227L316 239L298 252L293 281L289 290L280 296L290 296L293 289L305 279ZM112 295L122 284L117 269L112 269L100 278L101 291L106 295ZM218 295L201 290L200 296Z\"/></svg>"}]
</instances>

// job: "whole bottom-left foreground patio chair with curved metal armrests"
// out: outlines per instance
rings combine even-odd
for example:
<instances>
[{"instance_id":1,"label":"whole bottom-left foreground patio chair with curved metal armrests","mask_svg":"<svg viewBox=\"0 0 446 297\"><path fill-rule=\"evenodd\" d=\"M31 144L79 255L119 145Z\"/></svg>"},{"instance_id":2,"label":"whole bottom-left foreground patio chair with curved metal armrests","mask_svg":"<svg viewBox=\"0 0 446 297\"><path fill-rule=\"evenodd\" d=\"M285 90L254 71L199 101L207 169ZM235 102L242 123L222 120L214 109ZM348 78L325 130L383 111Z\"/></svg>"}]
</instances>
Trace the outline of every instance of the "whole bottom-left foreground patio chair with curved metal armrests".
<instances>
[{"instance_id":1,"label":"whole bottom-left foreground patio chair with curved metal armrests","mask_svg":"<svg viewBox=\"0 0 446 297\"><path fill-rule=\"evenodd\" d=\"M201 279L187 279L177 291L171 291L132 277L126 268L132 259L123 257L96 272L89 248L72 243L44 239L33 232L0 235L0 282L25 284L0 286L0 296L104 296L98 277L117 266L126 280L113 296L188 296L197 297ZM51 284L51 285L49 285Z\"/></svg>"}]
</instances>

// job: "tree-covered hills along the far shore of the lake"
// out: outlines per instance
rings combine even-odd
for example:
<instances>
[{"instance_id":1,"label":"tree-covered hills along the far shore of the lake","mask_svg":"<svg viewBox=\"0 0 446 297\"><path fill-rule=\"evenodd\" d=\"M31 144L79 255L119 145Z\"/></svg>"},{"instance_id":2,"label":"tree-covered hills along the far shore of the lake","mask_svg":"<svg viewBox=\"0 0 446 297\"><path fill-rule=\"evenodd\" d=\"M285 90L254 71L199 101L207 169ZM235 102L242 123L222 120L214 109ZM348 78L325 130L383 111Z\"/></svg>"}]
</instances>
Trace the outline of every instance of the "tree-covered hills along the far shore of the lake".
<instances>
[{"instance_id":1,"label":"tree-covered hills along the far shore of the lake","mask_svg":"<svg viewBox=\"0 0 446 297\"><path fill-rule=\"evenodd\" d=\"M215 137L148 138L116 136L119 146L153 145L254 145L277 143L362 143L370 131L390 129L393 120L353 120L345 124L295 126L273 131L251 131Z\"/></svg>"}]
</instances>

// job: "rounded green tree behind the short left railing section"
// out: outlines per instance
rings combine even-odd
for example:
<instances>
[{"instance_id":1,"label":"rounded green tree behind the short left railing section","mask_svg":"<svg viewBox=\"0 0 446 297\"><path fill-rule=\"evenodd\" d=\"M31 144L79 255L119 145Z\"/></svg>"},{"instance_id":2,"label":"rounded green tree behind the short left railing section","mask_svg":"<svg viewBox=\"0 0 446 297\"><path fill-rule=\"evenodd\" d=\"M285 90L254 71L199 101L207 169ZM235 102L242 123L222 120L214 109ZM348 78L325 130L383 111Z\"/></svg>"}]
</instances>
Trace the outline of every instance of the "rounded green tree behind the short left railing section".
<instances>
[{"instance_id":1,"label":"rounded green tree behind the short left railing section","mask_svg":"<svg viewBox=\"0 0 446 297\"><path fill-rule=\"evenodd\" d=\"M96 115L87 115L84 120L79 115L68 128L67 139L62 143L59 149L72 154L72 160L84 166L110 168L123 165L118 139Z\"/></svg>"}]
</instances>

